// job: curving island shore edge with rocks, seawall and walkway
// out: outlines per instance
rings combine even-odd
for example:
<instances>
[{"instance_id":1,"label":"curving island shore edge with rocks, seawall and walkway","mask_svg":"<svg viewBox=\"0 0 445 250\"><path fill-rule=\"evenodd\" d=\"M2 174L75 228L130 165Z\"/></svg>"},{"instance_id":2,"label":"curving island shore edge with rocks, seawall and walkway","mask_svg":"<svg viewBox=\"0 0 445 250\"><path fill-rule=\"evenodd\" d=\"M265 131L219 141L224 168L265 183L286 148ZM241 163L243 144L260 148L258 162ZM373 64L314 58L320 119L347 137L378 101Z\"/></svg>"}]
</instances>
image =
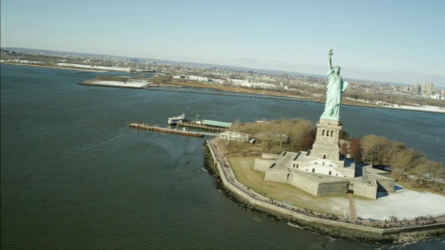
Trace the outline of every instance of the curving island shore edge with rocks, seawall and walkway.
<instances>
[{"instance_id":1,"label":"curving island shore edge with rocks, seawall and walkway","mask_svg":"<svg viewBox=\"0 0 445 250\"><path fill-rule=\"evenodd\" d=\"M228 176L226 176L223 167L221 167L218 156L213 152L210 141L204 142L204 167L215 178L216 188L245 210L250 210L253 213L265 215L266 217L277 219L291 226L297 226L314 233L372 244L405 244L407 242L437 239L445 236L444 223L400 228L375 228L341 222L340 220L313 217L254 198L257 195L252 194L251 197L249 194L238 190L233 184L237 182L236 179L232 179L232 177L227 179ZM215 150L218 150L218 148L216 147ZM232 169L230 169L230 172L232 172Z\"/></svg>"}]
</instances>

